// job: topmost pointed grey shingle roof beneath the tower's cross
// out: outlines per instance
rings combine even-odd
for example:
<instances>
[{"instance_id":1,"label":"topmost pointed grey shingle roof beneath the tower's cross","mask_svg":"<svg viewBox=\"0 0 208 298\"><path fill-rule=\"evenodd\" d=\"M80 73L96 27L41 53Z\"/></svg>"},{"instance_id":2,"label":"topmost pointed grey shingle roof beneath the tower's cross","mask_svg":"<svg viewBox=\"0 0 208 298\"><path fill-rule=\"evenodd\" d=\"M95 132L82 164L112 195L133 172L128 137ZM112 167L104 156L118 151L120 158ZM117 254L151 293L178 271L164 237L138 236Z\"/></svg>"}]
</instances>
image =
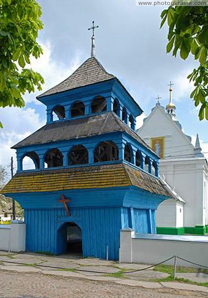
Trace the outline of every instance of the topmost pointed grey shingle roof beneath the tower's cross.
<instances>
[{"instance_id":1,"label":"topmost pointed grey shingle roof beneath the tower's cross","mask_svg":"<svg viewBox=\"0 0 208 298\"><path fill-rule=\"evenodd\" d=\"M115 76L113 74L108 74L100 62L95 57L92 57L86 60L63 82L39 95L37 98L99 83L112 78L115 78Z\"/></svg>"}]
</instances>

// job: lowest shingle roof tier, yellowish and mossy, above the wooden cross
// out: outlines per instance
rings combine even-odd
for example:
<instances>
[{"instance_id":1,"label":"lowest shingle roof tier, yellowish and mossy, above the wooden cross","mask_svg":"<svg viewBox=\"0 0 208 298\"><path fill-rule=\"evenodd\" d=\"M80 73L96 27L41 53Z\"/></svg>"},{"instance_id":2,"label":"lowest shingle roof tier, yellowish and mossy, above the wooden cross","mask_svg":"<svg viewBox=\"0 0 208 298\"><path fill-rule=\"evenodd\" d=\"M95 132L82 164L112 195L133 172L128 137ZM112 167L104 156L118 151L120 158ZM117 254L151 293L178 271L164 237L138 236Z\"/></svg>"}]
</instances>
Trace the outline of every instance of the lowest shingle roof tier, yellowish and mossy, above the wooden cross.
<instances>
[{"instance_id":1,"label":"lowest shingle roof tier, yellowish and mossy, above the wooden cross","mask_svg":"<svg viewBox=\"0 0 208 298\"><path fill-rule=\"evenodd\" d=\"M171 197L159 179L124 163L17 173L2 194L137 186Z\"/></svg>"}]
</instances>

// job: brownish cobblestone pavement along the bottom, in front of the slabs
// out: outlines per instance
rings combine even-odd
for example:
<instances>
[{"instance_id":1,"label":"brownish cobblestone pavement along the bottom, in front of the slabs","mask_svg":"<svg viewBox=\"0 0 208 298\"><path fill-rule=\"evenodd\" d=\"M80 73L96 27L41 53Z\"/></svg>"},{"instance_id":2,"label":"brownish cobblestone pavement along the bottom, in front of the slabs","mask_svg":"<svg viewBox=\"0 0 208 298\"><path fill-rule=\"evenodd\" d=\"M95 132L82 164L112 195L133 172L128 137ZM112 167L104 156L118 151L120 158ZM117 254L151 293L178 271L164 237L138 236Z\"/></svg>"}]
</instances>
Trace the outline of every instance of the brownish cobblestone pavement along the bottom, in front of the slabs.
<instances>
[{"instance_id":1,"label":"brownish cobblestone pavement along the bottom, in front of the slabs","mask_svg":"<svg viewBox=\"0 0 208 298\"><path fill-rule=\"evenodd\" d=\"M167 288L143 289L41 273L0 272L0 298L196 298L207 294Z\"/></svg>"}]
</instances>

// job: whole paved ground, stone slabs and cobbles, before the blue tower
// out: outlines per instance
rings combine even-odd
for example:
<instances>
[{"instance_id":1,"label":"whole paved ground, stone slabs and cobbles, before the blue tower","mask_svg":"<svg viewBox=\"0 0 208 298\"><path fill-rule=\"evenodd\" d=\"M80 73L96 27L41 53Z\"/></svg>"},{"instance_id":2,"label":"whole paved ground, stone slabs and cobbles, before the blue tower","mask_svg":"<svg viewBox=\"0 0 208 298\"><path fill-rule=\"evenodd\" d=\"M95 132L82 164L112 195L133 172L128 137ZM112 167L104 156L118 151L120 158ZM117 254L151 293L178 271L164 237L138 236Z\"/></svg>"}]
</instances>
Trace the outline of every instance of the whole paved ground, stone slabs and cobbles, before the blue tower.
<instances>
[{"instance_id":1,"label":"whole paved ground, stone slabs and cobbles, before the blue tower","mask_svg":"<svg viewBox=\"0 0 208 298\"><path fill-rule=\"evenodd\" d=\"M75 256L8 254L0 251L0 298L208 297L208 288L205 287L152 282L152 279L168 276L152 268L122 276L118 273L120 270L130 271L148 266ZM65 270L60 270L60 267ZM205 279L206 276L198 278Z\"/></svg>"}]
</instances>

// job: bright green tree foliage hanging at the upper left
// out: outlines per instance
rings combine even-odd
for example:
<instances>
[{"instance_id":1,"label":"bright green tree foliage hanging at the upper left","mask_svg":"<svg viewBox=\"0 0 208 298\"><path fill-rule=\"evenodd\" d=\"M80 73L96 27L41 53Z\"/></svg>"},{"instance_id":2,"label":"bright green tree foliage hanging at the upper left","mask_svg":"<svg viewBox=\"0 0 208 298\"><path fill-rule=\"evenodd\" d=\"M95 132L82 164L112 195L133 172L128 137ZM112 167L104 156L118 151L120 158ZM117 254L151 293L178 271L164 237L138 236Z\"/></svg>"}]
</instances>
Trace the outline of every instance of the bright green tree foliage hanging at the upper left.
<instances>
[{"instance_id":1,"label":"bright green tree foliage hanging at the upper left","mask_svg":"<svg viewBox=\"0 0 208 298\"><path fill-rule=\"evenodd\" d=\"M24 107L22 95L41 90L43 77L25 68L43 53L36 41L40 17L35 0L0 0L0 107Z\"/></svg>"}]
</instances>

